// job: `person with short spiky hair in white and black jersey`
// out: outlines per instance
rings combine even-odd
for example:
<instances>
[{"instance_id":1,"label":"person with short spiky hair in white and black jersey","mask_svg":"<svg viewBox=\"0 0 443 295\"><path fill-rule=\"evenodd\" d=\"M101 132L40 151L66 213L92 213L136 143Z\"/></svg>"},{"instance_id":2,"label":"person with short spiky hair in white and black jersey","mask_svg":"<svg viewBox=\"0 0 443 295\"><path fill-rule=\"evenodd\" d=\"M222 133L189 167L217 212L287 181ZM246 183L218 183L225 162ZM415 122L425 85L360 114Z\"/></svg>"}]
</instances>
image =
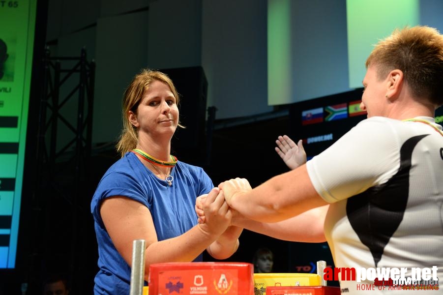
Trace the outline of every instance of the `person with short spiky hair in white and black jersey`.
<instances>
[{"instance_id":1,"label":"person with short spiky hair in white and black jersey","mask_svg":"<svg viewBox=\"0 0 443 295\"><path fill-rule=\"evenodd\" d=\"M244 178L222 182L220 195L259 232L325 238L336 267L404 267L406 277L432 268L442 278L443 131L434 114L443 105L443 36L396 29L366 67L367 119L306 164L254 189ZM340 287L357 294L355 281Z\"/></svg>"}]
</instances>

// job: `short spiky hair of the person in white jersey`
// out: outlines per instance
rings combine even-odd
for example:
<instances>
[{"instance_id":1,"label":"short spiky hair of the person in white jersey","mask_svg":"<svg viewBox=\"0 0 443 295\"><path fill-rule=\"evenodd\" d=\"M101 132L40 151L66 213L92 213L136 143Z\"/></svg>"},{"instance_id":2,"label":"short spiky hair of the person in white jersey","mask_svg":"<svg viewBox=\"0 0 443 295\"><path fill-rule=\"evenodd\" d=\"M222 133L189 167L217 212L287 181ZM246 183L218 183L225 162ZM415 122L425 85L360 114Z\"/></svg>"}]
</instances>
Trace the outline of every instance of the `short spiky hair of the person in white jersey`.
<instances>
[{"instance_id":1,"label":"short spiky hair of the person in white jersey","mask_svg":"<svg viewBox=\"0 0 443 295\"><path fill-rule=\"evenodd\" d=\"M381 40L366 60L374 64L377 75L399 69L415 97L428 98L435 106L443 105L443 36L437 29L416 26L395 29Z\"/></svg>"}]
</instances>

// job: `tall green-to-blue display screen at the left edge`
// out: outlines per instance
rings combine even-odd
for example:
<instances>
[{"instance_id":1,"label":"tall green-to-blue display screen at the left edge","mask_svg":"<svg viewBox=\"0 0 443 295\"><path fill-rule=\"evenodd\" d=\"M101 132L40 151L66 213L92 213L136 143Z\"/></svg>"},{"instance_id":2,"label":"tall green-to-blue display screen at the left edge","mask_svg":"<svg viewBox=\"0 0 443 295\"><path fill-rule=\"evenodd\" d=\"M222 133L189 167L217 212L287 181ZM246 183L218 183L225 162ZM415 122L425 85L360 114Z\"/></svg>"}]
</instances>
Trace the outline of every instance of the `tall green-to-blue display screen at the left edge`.
<instances>
[{"instance_id":1,"label":"tall green-to-blue display screen at the left edge","mask_svg":"<svg viewBox=\"0 0 443 295\"><path fill-rule=\"evenodd\" d=\"M0 268L14 268L36 0L0 0Z\"/></svg>"}]
</instances>

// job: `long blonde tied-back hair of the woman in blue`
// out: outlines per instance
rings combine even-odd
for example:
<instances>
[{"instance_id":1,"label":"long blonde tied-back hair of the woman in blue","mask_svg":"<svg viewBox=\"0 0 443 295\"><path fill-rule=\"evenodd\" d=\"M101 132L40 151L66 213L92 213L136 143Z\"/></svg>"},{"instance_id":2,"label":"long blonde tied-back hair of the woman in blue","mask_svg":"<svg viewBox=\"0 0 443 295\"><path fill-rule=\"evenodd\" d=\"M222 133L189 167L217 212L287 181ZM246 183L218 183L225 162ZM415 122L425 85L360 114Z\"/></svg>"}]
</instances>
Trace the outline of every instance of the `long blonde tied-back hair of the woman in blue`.
<instances>
[{"instance_id":1,"label":"long blonde tied-back hair of the woman in blue","mask_svg":"<svg viewBox=\"0 0 443 295\"><path fill-rule=\"evenodd\" d=\"M137 108L143 98L143 94L149 89L151 83L156 80L166 83L169 86L174 94L174 97L176 98L177 105L180 101L177 89L175 88L172 80L165 73L150 69L143 69L139 74L135 75L123 94L123 130L116 146L121 157L123 157L126 152L136 148L137 146L138 130L129 121L129 111L137 114ZM178 123L178 126L184 128L182 125L180 125L180 123Z\"/></svg>"}]
</instances>

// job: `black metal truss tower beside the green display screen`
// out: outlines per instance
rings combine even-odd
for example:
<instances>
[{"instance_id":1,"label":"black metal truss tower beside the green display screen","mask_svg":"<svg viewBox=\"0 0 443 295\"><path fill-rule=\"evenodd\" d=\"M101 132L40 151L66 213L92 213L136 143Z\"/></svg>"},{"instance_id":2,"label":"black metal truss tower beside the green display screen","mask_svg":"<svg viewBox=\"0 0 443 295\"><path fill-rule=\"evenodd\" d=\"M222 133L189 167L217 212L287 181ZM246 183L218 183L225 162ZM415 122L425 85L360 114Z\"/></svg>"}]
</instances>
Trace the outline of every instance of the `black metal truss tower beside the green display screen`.
<instances>
[{"instance_id":1,"label":"black metal truss tower beside the green display screen","mask_svg":"<svg viewBox=\"0 0 443 295\"><path fill-rule=\"evenodd\" d=\"M82 275L87 259L82 254L88 247L85 231L91 228L95 62L87 60L85 48L80 57L51 57L47 48L43 63L32 206L38 222L33 225L36 239L30 265L41 276L60 271L62 265L70 281L81 282L89 280ZM82 285L72 284L74 293L90 292L80 290Z\"/></svg>"}]
</instances>

